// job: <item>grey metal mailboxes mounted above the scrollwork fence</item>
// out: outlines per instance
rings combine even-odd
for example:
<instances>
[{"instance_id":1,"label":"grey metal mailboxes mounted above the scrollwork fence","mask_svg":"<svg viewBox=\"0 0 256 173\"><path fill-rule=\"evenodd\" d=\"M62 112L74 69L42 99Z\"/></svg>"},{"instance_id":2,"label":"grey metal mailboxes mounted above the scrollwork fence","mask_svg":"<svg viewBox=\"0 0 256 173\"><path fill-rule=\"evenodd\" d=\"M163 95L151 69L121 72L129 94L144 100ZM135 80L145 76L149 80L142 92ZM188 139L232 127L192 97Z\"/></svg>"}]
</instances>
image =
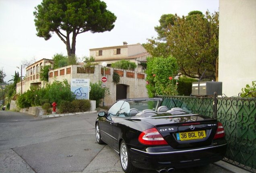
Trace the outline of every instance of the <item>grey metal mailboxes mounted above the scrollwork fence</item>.
<instances>
[{"instance_id":1,"label":"grey metal mailboxes mounted above the scrollwork fence","mask_svg":"<svg viewBox=\"0 0 256 173\"><path fill-rule=\"evenodd\" d=\"M222 82L207 81L200 82L199 85L198 82L192 83L192 95L210 96L215 92L222 95Z\"/></svg>"}]
</instances>

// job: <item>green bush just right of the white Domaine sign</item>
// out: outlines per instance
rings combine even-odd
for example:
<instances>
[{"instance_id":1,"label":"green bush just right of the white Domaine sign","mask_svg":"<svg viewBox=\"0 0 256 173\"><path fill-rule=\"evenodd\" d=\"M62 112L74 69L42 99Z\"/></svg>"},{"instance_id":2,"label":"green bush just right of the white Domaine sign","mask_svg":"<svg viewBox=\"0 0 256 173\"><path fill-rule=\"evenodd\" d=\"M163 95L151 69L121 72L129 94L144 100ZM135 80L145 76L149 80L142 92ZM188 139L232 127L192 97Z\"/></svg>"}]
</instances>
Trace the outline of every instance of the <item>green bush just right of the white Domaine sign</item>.
<instances>
[{"instance_id":1,"label":"green bush just right of the white Domaine sign","mask_svg":"<svg viewBox=\"0 0 256 173\"><path fill-rule=\"evenodd\" d=\"M91 83L91 91L90 91L90 100L95 100L96 101L96 107L99 107L102 99L109 95L109 89L108 88L101 88L101 83L102 82L96 82L96 83Z\"/></svg>"}]
</instances>

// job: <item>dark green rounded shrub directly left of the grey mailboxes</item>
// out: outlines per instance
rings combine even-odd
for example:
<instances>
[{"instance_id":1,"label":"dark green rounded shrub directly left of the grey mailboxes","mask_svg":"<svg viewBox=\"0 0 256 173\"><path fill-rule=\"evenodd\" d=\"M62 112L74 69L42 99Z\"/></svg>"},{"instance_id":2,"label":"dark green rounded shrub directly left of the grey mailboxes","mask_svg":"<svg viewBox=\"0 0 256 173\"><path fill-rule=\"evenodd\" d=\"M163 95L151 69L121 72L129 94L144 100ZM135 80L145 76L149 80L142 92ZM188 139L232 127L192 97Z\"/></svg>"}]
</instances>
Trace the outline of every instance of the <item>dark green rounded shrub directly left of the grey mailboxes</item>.
<instances>
[{"instance_id":1,"label":"dark green rounded shrub directly left of the grey mailboxes","mask_svg":"<svg viewBox=\"0 0 256 173\"><path fill-rule=\"evenodd\" d=\"M192 92L192 82L198 82L198 80L188 77L180 77L178 80L179 95L189 96Z\"/></svg>"}]
</instances>

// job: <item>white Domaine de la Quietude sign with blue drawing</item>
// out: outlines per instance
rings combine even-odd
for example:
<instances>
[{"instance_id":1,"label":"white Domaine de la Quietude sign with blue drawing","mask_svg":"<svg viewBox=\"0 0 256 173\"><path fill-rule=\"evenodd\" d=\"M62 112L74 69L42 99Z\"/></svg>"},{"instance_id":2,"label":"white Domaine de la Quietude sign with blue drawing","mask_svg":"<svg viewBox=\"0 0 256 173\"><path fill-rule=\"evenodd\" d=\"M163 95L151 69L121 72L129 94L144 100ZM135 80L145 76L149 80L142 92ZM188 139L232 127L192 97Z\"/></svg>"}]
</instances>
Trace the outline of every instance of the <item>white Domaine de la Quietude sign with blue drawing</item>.
<instances>
[{"instance_id":1,"label":"white Domaine de la Quietude sign with blue drawing","mask_svg":"<svg viewBox=\"0 0 256 173\"><path fill-rule=\"evenodd\" d=\"M72 78L71 91L76 99L89 99L90 79Z\"/></svg>"}]
</instances>

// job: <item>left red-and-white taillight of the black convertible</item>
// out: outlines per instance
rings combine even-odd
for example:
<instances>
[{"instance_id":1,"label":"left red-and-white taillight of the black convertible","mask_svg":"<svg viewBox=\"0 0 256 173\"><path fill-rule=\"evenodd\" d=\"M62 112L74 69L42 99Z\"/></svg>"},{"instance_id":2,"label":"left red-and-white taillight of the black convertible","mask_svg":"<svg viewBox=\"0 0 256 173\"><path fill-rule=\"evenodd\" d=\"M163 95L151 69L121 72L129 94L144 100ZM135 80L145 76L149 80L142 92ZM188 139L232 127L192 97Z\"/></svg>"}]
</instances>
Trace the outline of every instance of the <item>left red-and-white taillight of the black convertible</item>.
<instances>
[{"instance_id":1,"label":"left red-and-white taillight of the black convertible","mask_svg":"<svg viewBox=\"0 0 256 173\"><path fill-rule=\"evenodd\" d=\"M167 145L168 143L163 139L163 136L156 128L142 131L138 137L138 141L145 145Z\"/></svg>"}]
</instances>

